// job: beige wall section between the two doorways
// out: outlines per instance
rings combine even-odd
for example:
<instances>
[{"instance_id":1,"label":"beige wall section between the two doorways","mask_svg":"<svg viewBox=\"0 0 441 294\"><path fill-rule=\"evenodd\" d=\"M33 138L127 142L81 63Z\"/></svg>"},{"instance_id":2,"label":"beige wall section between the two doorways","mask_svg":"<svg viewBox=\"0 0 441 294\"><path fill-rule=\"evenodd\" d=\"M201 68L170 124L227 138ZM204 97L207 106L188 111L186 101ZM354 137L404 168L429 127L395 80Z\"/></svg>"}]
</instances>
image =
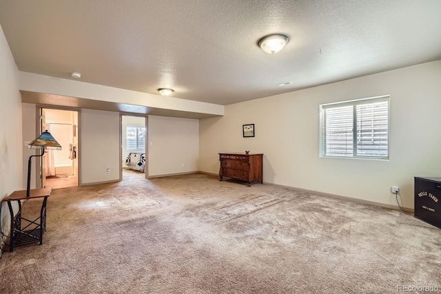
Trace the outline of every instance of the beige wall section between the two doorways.
<instances>
[{"instance_id":1,"label":"beige wall section between the two doorways","mask_svg":"<svg viewBox=\"0 0 441 294\"><path fill-rule=\"evenodd\" d=\"M81 184L119 180L120 149L119 113L82 109ZM110 168L109 174L107 168Z\"/></svg>"}]
</instances>

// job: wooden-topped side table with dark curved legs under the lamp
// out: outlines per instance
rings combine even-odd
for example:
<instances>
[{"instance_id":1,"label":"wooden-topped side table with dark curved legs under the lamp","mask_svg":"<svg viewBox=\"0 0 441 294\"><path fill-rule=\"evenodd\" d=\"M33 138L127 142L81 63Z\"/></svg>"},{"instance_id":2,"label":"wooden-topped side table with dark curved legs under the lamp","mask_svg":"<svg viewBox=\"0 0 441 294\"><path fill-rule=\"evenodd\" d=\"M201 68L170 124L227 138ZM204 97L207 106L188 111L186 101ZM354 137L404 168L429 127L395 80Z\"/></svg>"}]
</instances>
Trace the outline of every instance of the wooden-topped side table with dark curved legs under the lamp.
<instances>
[{"instance_id":1,"label":"wooden-topped side table with dark curved legs under the lamp","mask_svg":"<svg viewBox=\"0 0 441 294\"><path fill-rule=\"evenodd\" d=\"M11 216L11 229L10 229L10 241L9 251L14 250L14 246L29 244L32 242L40 242L43 244L43 233L46 231L46 203L48 197L52 192L52 188L43 189L30 189L30 196L26 197L26 190L14 191L10 196L3 199L8 202L9 213ZM44 198L41 204L40 216L35 220L28 220L21 216L21 200L33 200L37 198ZM19 211L14 216L14 210L12 209L12 201L19 203ZM25 221L28 224L25 227L21 227L21 222ZM30 226L34 224L33 228ZM24 225L24 224L23 224Z\"/></svg>"}]
</instances>

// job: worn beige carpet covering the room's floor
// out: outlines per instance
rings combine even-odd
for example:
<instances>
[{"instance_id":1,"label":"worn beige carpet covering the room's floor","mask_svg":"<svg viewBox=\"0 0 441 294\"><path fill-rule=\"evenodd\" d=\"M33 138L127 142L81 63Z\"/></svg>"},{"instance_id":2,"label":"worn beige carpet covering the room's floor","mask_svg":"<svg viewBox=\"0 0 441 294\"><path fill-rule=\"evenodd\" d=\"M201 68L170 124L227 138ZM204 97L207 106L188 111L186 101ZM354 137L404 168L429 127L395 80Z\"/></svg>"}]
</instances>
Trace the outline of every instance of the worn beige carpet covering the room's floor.
<instances>
[{"instance_id":1,"label":"worn beige carpet covering the room's floor","mask_svg":"<svg viewBox=\"0 0 441 294\"><path fill-rule=\"evenodd\" d=\"M3 253L0 293L441 288L441 230L407 213L201 174L143 176L54 190L44 244Z\"/></svg>"}]
</instances>

